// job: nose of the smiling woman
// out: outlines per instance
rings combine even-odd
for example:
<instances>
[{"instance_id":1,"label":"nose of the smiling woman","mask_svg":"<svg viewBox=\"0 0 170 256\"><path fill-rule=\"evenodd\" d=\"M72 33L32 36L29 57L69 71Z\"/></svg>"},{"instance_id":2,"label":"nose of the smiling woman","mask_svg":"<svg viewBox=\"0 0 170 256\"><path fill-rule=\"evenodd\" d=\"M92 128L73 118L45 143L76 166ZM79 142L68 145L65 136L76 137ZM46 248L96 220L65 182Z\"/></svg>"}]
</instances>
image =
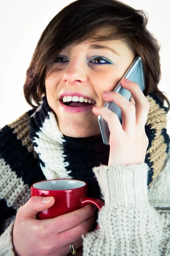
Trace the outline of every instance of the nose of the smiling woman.
<instances>
[{"instance_id":1,"label":"nose of the smiling woman","mask_svg":"<svg viewBox=\"0 0 170 256\"><path fill-rule=\"evenodd\" d=\"M72 59L65 70L62 81L69 84L77 84L87 81L87 63L80 58Z\"/></svg>"}]
</instances>

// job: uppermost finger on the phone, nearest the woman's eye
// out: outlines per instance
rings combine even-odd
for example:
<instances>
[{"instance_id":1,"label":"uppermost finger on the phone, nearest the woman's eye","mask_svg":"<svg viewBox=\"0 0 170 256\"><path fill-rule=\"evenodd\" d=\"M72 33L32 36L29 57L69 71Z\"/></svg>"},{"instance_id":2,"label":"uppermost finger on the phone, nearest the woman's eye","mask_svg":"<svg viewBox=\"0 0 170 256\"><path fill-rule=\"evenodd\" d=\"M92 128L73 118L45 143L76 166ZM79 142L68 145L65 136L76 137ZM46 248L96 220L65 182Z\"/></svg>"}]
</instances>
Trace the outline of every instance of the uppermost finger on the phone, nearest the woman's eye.
<instances>
[{"instance_id":1,"label":"uppermost finger on the phone, nearest the woman's eye","mask_svg":"<svg viewBox=\"0 0 170 256\"><path fill-rule=\"evenodd\" d=\"M130 91L135 101L136 125L143 127L147 122L150 103L144 96L144 93L138 84L132 81L126 82L124 79L122 79L121 84L125 89Z\"/></svg>"}]
</instances>

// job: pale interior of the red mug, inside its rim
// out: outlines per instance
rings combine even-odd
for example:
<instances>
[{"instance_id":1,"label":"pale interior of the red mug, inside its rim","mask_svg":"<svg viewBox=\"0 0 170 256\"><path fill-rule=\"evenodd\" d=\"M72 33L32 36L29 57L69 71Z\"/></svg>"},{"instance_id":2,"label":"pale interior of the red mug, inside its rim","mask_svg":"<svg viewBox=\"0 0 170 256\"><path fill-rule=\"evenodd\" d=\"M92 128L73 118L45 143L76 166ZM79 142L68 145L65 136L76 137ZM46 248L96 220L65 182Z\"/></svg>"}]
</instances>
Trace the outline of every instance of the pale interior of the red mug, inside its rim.
<instances>
[{"instance_id":1,"label":"pale interior of the red mug, inside its rim","mask_svg":"<svg viewBox=\"0 0 170 256\"><path fill-rule=\"evenodd\" d=\"M81 180L45 180L34 183L33 188L43 190L67 190L77 189L85 186L85 182Z\"/></svg>"}]
</instances>

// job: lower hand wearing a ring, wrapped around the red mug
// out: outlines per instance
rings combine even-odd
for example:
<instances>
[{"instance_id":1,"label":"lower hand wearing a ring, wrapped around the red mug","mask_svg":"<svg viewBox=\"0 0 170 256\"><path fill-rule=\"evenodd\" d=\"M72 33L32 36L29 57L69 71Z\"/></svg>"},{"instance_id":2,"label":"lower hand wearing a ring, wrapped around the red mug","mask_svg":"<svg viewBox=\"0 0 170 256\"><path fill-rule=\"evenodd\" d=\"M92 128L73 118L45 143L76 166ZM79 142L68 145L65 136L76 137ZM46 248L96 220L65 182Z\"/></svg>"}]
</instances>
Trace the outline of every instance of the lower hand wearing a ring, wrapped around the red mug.
<instances>
[{"instance_id":1,"label":"lower hand wearing a ring, wrapped around the red mug","mask_svg":"<svg viewBox=\"0 0 170 256\"><path fill-rule=\"evenodd\" d=\"M54 197L34 196L18 209L12 235L16 256L65 256L69 244L82 246L82 235L95 222L96 207L89 204L56 218L36 219L38 212L53 205Z\"/></svg>"}]
</instances>

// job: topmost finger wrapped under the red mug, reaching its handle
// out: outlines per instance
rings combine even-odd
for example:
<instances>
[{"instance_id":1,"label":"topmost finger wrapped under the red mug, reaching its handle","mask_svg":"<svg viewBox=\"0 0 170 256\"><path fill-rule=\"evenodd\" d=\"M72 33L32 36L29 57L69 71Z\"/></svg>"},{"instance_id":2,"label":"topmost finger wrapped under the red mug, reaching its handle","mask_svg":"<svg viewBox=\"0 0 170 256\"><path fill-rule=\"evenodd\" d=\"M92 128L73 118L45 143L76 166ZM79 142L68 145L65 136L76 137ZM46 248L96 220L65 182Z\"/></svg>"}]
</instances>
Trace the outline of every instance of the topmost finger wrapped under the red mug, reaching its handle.
<instances>
[{"instance_id":1,"label":"topmost finger wrapped under the red mug, reaching its handle","mask_svg":"<svg viewBox=\"0 0 170 256\"><path fill-rule=\"evenodd\" d=\"M55 229L57 233L60 233L72 227L75 227L86 219L90 218L94 214L95 210L96 208L93 207L93 205L89 204L73 212L69 212L58 217L42 221L45 221L45 224L47 225L47 227L49 227L49 230Z\"/></svg>"}]
</instances>

